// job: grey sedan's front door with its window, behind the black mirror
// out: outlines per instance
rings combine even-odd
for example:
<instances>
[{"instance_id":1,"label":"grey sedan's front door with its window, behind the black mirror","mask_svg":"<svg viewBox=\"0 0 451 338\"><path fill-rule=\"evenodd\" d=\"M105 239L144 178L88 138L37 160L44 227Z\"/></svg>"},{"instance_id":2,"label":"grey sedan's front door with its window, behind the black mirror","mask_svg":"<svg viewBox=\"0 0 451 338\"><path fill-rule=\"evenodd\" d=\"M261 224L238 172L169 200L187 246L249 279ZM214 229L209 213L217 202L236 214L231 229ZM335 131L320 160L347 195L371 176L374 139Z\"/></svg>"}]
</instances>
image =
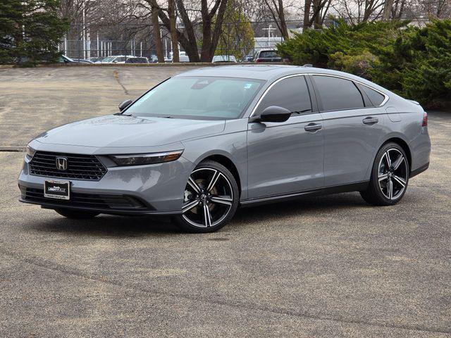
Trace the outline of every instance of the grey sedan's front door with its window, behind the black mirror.
<instances>
[{"instance_id":1,"label":"grey sedan's front door with its window, behind the black mirror","mask_svg":"<svg viewBox=\"0 0 451 338\"><path fill-rule=\"evenodd\" d=\"M249 123L248 196L251 199L323 186L323 130L316 100L312 105L304 75L278 80L257 106L292 111L283 123Z\"/></svg>"}]
</instances>

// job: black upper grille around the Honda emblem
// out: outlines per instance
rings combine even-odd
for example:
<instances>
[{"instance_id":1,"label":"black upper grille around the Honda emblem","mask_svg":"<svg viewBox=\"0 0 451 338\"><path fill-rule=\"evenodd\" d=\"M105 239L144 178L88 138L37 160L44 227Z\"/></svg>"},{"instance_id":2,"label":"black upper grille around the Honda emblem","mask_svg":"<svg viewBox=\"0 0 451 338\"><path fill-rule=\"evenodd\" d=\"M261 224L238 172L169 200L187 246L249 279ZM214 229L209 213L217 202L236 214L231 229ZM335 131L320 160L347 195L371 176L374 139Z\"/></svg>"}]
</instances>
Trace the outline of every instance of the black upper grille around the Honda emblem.
<instances>
[{"instance_id":1,"label":"black upper grille around the Honda emblem","mask_svg":"<svg viewBox=\"0 0 451 338\"><path fill-rule=\"evenodd\" d=\"M56 168L56 158L67 158L67 170ZM37 151L30 162L30 174L45 177L68 178L70 180L98 181L106 168L96 156L78 154L57 154Z\"/></svg>"}]
</instances>

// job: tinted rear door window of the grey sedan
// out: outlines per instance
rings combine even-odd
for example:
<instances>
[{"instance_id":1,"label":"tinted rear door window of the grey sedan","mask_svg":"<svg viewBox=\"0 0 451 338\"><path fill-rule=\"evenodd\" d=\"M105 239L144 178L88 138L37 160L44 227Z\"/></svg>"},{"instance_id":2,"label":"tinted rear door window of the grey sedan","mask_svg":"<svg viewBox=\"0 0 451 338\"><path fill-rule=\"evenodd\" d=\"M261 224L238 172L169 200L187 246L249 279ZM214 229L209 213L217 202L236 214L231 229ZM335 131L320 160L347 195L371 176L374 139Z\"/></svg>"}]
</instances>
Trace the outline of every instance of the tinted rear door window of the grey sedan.
<instances>
[{"instance_id":1,"label":"tinted rear door window of the grey sedan","mask_svg":"<svg viewBox=\"0 0 451 338\"><path fill-rule=\"evenodd\" d=\"M362 93L354 82L340 77L314 75L324 111L364 108Z\"/></svg>"}]
</instances>

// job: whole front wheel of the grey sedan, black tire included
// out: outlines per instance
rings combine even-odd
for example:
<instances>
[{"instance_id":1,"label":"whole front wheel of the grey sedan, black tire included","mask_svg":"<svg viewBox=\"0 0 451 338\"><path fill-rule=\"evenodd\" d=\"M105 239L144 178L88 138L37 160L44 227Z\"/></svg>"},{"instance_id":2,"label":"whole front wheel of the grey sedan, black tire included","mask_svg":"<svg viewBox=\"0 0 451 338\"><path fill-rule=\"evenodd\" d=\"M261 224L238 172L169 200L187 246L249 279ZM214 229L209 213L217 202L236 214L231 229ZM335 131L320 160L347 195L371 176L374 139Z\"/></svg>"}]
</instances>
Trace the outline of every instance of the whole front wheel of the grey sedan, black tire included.
<instances>
[{"instance_id":1,"label":"whole front wheel of the grey sedan, black tire included","mask_svg":"<svg viewBox=\"0 0 451 338\"><path fill-rule=\"evenodd\" d=\"M230 170L215 161L199 163L184 191L182 215L175 223L185 232L215 232L235 215L240 192Z\"/></svg>"}]
</instances>

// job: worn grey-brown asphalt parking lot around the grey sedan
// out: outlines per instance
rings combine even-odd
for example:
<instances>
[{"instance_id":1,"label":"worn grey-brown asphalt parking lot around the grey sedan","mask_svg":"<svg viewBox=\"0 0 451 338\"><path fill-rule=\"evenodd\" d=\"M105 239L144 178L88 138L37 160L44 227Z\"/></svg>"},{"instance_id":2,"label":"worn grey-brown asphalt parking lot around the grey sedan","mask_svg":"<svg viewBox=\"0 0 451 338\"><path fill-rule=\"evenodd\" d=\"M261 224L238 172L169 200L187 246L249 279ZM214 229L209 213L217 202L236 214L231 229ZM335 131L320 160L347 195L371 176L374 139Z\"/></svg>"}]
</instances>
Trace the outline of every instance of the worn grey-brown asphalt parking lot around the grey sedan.
<instances>
[{"instance_id":1,"label":"worn grey-brown asphalt parking lot around the grey sedan","mask_svg":"<svg viewBox=\"0 0 451 338\"><path fill-rule=\"evenodd\" d=\"M397 206L305 198L183 234L17 201L16 149L186 69L0 69L0 337L450 337L451 113Z\"/></svg>"}]
</instances>

